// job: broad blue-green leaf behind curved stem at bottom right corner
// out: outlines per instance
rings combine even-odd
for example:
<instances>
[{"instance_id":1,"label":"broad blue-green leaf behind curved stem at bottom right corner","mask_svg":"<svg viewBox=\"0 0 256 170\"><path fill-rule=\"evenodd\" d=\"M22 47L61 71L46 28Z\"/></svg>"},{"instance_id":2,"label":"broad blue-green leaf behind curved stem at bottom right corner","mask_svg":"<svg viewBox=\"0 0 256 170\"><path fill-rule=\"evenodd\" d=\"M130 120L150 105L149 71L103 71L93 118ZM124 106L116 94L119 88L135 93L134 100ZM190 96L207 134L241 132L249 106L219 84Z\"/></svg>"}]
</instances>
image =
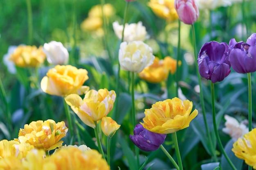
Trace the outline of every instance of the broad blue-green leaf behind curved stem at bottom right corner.
<instances>
[{"instance_id":1,"label":"broad blue-green leaf behind curved stem at bottom right corner","mask_svg":"<svg viewBox=\"0 0 256 170\"><path fill-rule=\"evenodd\" d=\"M227 153L227 156L229 157L231 162L236 167L236 169L241 170L244 161L243 161L243 159L239 159L238 157L236 157L234 152L231 150L233 148L234 142L235 142L234 139L230 139L229 142L227 142L224 150ZM231 170L232 169L231 166L229 165L229 163L227 162L227 159L224 157L224 155L221 156L220 162L221 162L220 164L221 164L222 170Z\"/></svg>"}]
</instances>

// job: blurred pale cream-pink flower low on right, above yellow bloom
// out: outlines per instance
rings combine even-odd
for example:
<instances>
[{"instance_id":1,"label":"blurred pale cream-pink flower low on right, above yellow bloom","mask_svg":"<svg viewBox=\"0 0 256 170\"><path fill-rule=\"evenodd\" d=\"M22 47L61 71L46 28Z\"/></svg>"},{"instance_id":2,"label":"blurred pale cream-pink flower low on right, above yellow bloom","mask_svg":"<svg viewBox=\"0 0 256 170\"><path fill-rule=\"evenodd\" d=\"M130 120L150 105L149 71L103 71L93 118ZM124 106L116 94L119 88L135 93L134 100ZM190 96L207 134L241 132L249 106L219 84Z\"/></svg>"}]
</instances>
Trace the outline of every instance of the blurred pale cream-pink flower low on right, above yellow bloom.
<instances>
[{"instance_id":1,"label":"blurred pale cream-pink flower low on right, above yellow bloom","mask_svg":"<svg viewBox=\"0 0 256 170\"><path fill-rule=\"evenodd\" d=\"M224 116L225 128L222 131L228 134L231 138L237 140L239 137L243 137L246 133L248 133L248 128L243 123L239 123L235 118L225 115Z\"/></svg>"}]
</instances>

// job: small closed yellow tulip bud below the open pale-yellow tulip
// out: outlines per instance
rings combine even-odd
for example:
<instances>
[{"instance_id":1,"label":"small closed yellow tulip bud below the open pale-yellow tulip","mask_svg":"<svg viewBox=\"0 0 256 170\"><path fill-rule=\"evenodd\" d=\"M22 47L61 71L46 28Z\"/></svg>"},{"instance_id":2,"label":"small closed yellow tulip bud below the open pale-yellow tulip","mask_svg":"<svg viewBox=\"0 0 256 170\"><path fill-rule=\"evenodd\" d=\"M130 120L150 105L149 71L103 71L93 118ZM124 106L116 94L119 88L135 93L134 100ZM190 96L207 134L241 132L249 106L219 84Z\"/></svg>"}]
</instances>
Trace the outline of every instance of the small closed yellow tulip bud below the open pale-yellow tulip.
<instances>
[{"instance_id":1,"label":"small closed yellow tulip bud below the open pale-yellow tulip","mask_svg":"<svg viewBox=\"0 0 256 170\"><path fill-rule=\"evenodd\" d=\"M117 124L117 122L110 117L103 117L101 119L101 130L108 137L115 135L120 126L120 124Z\"/></svg>"}]
</instances>

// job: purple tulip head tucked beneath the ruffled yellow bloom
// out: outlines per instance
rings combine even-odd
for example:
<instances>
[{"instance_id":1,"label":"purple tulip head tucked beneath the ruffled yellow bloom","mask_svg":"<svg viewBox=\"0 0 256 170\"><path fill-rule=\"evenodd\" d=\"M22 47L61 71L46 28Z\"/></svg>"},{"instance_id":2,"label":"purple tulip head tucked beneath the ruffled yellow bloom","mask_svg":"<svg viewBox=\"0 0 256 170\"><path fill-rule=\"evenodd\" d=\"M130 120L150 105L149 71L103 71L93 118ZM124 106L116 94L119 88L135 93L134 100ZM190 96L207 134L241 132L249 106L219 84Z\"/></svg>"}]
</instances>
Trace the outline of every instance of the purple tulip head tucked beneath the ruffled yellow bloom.
<instances>
[{"instance_id":1,"label":"purple tulip head tucked beneath the ruffled yellow bloom","mask_svg":"<svg viewBox=\"0 0 256 170\"><path fill-rule=\"evenodd\" d=\"M133 130L134 135L130 135L132 142L141 150L157 150L164 143L166 134L150 132L141 124L137 124Z\"/></svg>"}]
</instances>

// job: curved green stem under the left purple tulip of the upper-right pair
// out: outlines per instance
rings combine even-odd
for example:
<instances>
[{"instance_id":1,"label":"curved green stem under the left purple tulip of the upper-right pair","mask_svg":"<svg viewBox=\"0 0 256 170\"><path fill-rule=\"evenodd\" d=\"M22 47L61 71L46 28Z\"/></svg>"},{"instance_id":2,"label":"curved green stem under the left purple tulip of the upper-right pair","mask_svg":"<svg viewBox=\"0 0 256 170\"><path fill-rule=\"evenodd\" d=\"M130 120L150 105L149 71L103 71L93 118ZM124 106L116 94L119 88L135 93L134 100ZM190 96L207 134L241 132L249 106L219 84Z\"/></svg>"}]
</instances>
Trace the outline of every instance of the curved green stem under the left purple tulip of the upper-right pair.
<instances>
[{"instance_id":1,"label":"curved green stem under the left purple tulip of the upper-right pair","mask_svg":"<svg viewBox=\"0 0 256 170\"><path fill-rule=\"evenodd\" d=\"M231 168L233 170L236 170L236 167L234 166L234 164L231 162L231 160L227 156L227 153L225 152L225 150L224 150L224 148L222 146L221 140L220 140L220 136L219 136L218 129L217 129L217 124L216 124L216 113L215 113L214 100L215 100L215 97L214 97L214 83L211 82L211 109L212 109L214 133L215 133L215 136L217 138L217 142L218 142L218 144L220 146L220 150L221 150L222 154L227 159L227 161L228 161L229 165L231 166Z\"/></svg>"}]
</instances>

